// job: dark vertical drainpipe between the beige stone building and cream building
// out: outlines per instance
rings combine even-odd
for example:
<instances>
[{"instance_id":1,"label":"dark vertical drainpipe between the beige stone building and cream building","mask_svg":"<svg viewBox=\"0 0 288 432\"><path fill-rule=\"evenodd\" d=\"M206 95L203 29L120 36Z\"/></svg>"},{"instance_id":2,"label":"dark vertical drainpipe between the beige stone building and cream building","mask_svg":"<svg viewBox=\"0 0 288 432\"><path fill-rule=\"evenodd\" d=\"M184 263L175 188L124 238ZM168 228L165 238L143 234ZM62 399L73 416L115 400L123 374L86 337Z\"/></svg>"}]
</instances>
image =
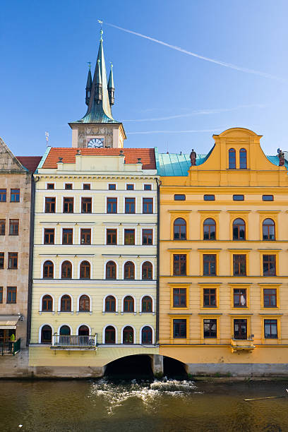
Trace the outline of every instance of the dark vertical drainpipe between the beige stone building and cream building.
<instances>
[{"instance_id":1,"label":"dark vertical drainpipe between the beige stone building and cream building","mask_svg":"<svg viewBox=\"0 0 288 432\"><path fill-rule=\"evenodd\" d=\"M32 311L32 282L33 282L33 245L34 245L34 218L35 218L35 183L40 177L31 175L31 205L30 205L30 245L29 245L29 273L28 273L28 307L27 307L27 339L26 346L31 338L31 311Z\"/></svg>"}]
</instances>

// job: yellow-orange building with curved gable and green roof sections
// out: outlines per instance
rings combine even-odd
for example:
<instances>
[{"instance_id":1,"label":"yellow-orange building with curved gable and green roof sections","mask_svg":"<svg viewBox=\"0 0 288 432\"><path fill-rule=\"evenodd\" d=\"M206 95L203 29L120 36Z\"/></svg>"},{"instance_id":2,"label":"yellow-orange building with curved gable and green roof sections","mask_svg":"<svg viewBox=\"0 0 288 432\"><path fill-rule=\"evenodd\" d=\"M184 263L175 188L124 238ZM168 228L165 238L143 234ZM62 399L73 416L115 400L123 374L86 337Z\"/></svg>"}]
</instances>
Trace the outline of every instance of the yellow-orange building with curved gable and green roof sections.
<instances>
[{"instance_id":1,"label":"yellow-orange building with curved gable and green roof sections","mask_svg":"<svg viewBox=\"0 0 288 432\"><path fill-rule=\"evenodd\" d=\"M287 167L247 129L213 138L195 164L156 154L160 354L191 374L287 374Z\"/></svg>"}]
</instances>

